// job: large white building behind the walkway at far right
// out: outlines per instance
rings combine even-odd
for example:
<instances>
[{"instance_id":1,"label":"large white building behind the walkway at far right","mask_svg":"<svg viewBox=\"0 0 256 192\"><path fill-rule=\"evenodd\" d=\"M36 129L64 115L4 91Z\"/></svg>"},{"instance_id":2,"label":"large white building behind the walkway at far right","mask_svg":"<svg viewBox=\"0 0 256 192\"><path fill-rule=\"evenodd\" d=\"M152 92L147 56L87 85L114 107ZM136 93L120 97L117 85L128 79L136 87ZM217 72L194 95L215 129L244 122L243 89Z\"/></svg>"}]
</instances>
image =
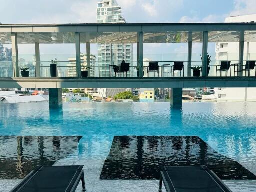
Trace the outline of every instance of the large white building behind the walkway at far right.
<instances>
[{"instance_id":1,"label":"large white building behind the walkway at far right","mask_svg":"<svg viewBox=\"0 0 256 192\"><path fill-rule=\"evenodd\" d=\"M225 22L256 22L256 14L227 17L225 19ZM239 52L239 42L216 43L216 60L217 61L239 60L238 52ZM255 42L244 43L243 58L244 60L256 60L256 43ZM251 75L255 75L254 70L251 71ZM256 88L215 88L214 91L218 101L256 101L256 94L255 94Z\"/></svg>"}]
</instances>

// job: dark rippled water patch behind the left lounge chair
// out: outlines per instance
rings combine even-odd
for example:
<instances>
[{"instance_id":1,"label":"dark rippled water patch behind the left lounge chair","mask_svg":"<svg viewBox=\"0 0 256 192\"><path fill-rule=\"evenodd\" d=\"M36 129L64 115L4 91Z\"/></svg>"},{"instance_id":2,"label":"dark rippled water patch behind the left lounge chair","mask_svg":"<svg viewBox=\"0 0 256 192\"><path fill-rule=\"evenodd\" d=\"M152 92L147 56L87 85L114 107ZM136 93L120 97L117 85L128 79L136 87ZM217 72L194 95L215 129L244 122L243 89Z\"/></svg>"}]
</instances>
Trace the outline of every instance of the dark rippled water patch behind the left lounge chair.
<instances>
[{"instance_id":1,"label":"dark rippled water patch behind the left lounge chair","mask_svg":"<svg viewBox=\"0 0 256 192\"><path fill-rule=\"evenodd\" d=\"M81 136L0 136L0 178L21 179L77 150Z\"/></svg>"}]
</instances>

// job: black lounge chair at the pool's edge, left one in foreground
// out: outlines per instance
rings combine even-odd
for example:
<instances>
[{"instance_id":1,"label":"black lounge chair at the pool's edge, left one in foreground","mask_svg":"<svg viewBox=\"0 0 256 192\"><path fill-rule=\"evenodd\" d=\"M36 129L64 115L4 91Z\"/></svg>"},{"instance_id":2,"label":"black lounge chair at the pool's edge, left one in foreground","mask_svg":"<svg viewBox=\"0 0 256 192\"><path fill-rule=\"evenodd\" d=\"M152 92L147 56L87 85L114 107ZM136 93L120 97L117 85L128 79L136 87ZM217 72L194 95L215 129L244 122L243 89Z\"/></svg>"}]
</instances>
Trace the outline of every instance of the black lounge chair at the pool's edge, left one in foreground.
<instances>
[{"instance_id":1,"label":"black lounge chair at the pool's edge, left one in foreground","mask_svg":"<svg viewBox=\"0 0 256 192\"><path fill-rule=\"evenodd\" d=\"M39 166L10 192L75 192L80 180L82 191L85 191L82 167L83 165Z\"/></svg>"}]
</instances>

